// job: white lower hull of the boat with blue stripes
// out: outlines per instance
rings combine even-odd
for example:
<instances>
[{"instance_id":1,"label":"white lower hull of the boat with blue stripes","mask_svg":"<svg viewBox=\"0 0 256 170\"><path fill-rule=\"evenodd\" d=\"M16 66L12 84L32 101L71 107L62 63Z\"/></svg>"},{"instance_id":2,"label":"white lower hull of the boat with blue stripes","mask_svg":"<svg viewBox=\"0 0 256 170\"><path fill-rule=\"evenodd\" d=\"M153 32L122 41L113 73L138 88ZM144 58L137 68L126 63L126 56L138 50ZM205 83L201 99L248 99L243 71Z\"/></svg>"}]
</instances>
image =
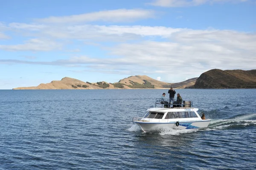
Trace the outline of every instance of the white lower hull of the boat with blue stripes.
<instances>
[{"instance_id":1,"label":"white lower hull of the boat with blue stripes","mask_svg":"<svg viewBox=\"0 0 256 170\"><path fill-rule=\"evenodd\" d=\"M143 122L143 121L136 121L137 125L140 126L140 128L144 132L148 131L156 131L162 128L171 128L171 129L200 129L207 127L211 120L198 120L198 121L177 121L176 122Z\"/></svg>"}]
</instances>

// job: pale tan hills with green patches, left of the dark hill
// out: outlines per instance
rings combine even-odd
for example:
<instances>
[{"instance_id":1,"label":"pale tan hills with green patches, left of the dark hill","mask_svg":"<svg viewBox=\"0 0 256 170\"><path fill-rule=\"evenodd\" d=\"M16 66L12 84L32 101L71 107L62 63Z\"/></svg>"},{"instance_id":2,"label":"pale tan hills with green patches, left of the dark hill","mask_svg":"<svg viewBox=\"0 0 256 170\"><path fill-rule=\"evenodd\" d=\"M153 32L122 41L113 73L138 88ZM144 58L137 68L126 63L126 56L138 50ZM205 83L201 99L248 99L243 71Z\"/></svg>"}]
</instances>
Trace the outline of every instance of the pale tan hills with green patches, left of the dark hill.
<instances>
[{"instance_id":1,"label":"pale tan hills with green patches, left of the dark hill","mask_svg":"<svg viewBox=\"0 0 256 170\"><path fill-rule=\"evenodd\" d=\"M167 83L161 82L156 79L152 79L148 76L130 76L125 79L119 80L119 82L83 82L78 79L70 77L64 77L60 81L52 81L50 83L42 83L33 87L19 87L18 89L131 89L131 88L185 88L195 84L197 78L189 79L184 82Z\"/></svg>"}]
</instances>

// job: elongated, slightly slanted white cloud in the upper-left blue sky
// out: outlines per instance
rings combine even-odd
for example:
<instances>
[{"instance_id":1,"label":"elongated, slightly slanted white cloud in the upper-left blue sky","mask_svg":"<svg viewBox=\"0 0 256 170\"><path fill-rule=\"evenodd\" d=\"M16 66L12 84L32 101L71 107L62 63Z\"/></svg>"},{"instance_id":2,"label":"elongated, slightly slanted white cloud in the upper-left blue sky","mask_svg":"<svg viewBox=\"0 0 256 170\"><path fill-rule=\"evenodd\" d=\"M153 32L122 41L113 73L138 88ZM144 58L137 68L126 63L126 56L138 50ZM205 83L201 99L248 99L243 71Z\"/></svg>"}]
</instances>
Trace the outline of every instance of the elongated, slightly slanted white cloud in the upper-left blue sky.
<instances>
[{"instance_id":1,"label":"elongated, slightly slanted white cloud in the upper-left blue sky","mask_svg":"<svg viewBox=\"0 0 256 170\"><path fill-rule=\"evenodd\" d=\"M154 17L154 11L145 9L116 9L64 17L36 19L44 23L83 23L92 21L127 22Z\"/></svg>"}]
</instances>

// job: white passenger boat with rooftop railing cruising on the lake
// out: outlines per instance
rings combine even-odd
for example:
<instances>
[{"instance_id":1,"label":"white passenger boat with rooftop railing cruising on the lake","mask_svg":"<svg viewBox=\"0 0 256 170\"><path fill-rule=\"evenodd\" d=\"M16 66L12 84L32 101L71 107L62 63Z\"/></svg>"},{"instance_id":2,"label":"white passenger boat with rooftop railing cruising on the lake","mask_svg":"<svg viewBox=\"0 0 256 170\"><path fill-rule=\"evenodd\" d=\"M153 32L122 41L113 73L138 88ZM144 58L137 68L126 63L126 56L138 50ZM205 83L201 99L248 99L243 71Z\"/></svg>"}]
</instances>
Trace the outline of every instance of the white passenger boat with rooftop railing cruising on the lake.
<instances>
[{"instance_id":1,"label":"white passenger boat with rooftop railing cruising on the lake","mask_svg":"<svg viewBox=\"0 0 256 170\"><path fill-rule=\"evenodd\" d=\"M155 108L149 108L143 117L134 117L132 122L144 132L163 128L201 129L208 127L211 122L210 119L201 119L192 101L174 102L167 106L161 99L156 99Z\"/></svg>"}]
</instances>

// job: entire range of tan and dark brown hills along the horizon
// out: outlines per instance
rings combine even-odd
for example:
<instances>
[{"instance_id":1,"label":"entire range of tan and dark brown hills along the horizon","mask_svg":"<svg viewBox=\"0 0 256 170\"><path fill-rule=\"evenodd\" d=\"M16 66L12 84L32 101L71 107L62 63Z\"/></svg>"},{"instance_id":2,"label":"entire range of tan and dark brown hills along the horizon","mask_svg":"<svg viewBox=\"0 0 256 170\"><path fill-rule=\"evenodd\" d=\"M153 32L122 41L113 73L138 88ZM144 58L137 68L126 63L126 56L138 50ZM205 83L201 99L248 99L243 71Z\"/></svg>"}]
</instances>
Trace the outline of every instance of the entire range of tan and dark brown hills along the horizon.
<instances>
[{"instance_id":1,"label":"entire range of tan and dark brown hills along the horizon","mask_svg":"<svg viewBox=\"0 0 256 170\"><path fill-rule=\"evenodd\" d=\"M18 87L20 89L137 89L137 88L256 88L256 70L220 70L212 69L183 82L168 83L152 79L146 75L136 75L120 79L119 82L83 82L78 79L64 77L38 86Z\"/></svg>"}]
</instances>

